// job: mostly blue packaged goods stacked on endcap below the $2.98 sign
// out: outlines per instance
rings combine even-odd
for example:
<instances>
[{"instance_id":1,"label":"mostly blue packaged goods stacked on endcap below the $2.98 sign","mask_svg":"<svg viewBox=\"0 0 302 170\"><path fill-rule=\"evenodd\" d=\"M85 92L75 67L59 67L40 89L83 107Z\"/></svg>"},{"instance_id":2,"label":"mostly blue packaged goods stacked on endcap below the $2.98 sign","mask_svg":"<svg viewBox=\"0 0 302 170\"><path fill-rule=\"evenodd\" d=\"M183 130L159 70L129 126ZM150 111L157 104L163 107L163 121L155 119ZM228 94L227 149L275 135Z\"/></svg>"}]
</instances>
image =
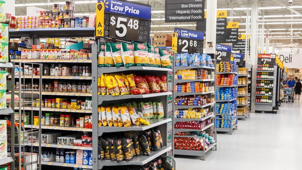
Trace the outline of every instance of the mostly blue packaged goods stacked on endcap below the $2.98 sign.
<instances>
[{"instance_id":1,"label":"mostly blue packaged goods stacked on endcap below the $2.98 sign","mask_svg":"<svg viewBox=\"0 0 302 170\"><path fill-rule=\"evenodd\" d=\"M238 66L234 61L216 63L215 130L229 132L237 129Z\"/></svg>"}]
</instances>

